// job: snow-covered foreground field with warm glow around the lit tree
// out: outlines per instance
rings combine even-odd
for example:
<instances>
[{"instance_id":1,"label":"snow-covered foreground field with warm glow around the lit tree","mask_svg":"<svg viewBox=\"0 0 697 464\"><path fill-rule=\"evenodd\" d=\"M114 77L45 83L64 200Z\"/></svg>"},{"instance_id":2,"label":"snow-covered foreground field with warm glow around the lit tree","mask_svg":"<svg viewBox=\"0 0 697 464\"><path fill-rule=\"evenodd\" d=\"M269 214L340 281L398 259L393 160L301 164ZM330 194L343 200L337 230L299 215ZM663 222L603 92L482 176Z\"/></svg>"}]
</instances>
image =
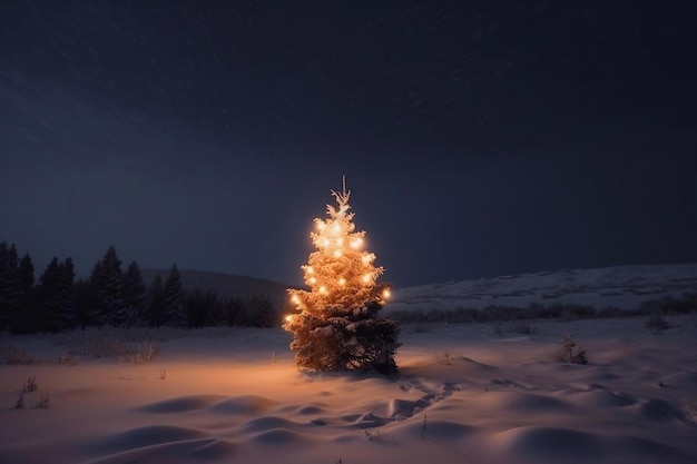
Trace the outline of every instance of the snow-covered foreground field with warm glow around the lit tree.
<instances>
[{"instance_id":1,"label":"snow-covered foreground field with warm glow around the lit tree","mask_svg":"<svg viewBox=\"0 0 697 464\"><path fill-rule=\"evenodd\" d=\"M668 320L405 327L397 378L298 372L281 329L175 334L143 365L4 336L43 363L0 365L0 462L694 463L697 316ZM567 333L588 365L552 361Z\"/></svg>"}]
</instances>

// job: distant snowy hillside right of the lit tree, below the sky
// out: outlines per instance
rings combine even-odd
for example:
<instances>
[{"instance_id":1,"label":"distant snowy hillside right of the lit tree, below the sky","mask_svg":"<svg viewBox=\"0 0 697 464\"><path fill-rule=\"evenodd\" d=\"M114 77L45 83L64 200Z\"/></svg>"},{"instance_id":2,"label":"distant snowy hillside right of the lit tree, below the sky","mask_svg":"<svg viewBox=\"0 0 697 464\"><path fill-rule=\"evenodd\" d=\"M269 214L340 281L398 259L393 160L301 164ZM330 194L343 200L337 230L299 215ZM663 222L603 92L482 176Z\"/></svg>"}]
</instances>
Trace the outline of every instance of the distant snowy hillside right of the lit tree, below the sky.
<instances>
[{"instance_id":1,"label":"distant snowy hillside right of the lit tree, below the sky","mask_svg":"<svg viewBox=\"0 0 697 464\"><path fill-rule=\"evenodd\" d=\"M697 293L697 264L618 266L521 274L396 288L385 308L481 309L530 303L588 305L596 309L638 308L642 302Z\"/></svg>"}]
</instances>

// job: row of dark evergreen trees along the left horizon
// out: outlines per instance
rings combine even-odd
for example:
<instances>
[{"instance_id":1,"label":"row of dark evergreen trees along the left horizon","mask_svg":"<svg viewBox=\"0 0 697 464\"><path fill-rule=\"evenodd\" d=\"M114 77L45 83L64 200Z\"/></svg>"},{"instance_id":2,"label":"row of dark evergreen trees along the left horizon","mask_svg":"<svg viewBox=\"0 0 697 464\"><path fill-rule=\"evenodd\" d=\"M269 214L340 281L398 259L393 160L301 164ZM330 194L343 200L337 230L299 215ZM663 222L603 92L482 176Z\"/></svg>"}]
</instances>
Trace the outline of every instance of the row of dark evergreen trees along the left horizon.
<instances>
[{"instance_id":1,"label":"row of dark evergreen trees along the left horizon","mask_svg":"<svg viewBox=\"0 0 697 464\"><path fill-rule=\"evenodd\" d=\"M134 260L121 267L110 246L87 279L76 279L70 257L53 257L38 280L29 254L0 243L0 333L55 333L89 326L186 327L277 325L266 297L219 298L210 289L186 290L176 264L146 285Z\"/></svg>"}]
</instances>

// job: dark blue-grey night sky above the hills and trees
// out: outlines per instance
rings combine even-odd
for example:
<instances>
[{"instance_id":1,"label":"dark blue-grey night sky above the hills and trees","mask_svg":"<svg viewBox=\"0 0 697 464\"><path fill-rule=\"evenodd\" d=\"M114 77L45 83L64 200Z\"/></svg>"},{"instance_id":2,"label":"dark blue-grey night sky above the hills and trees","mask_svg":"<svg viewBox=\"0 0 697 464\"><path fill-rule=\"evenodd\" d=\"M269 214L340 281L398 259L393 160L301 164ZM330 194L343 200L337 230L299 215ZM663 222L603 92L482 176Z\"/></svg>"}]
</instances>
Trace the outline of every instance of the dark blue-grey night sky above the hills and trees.
<instances>
[{"instance_id":1,"label":"dark blue-grey night sky above the hills and trees","mask_svg":"<svg viewBox=\"0 0 697 464\"><path fill-rule=\"evenodd\" d=\"M685 1L0 2L0 240L300 284L697 261Z\"/></svg>"}]
</instances>

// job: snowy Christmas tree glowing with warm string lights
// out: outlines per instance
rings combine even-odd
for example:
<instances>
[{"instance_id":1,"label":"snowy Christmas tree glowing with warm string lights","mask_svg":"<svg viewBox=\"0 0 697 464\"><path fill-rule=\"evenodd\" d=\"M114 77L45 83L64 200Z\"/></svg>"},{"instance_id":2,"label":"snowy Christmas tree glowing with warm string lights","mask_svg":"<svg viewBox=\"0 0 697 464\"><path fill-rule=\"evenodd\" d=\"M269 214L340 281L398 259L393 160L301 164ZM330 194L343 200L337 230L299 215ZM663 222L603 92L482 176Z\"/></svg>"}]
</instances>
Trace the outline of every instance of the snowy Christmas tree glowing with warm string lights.
<instances>
[{"instance_id":1,"label":"snowy Christmas tree glowing with warm string lights","mask_svg":"<svg viewBox=\"0 0 697 464\"><path fill-rule=\"evenodd\" d=\"M365 231L354 231L345 179L343 191L332 195L337 205L327 205L327 219L315 219L316 250L302 266L310 290L288 289L298 313L283 328L294 336L301 368L396 374L399 325L377 318L390 297L387 284L377 283L384 269L364 249Z\"/></svg>"}]
</instances>

